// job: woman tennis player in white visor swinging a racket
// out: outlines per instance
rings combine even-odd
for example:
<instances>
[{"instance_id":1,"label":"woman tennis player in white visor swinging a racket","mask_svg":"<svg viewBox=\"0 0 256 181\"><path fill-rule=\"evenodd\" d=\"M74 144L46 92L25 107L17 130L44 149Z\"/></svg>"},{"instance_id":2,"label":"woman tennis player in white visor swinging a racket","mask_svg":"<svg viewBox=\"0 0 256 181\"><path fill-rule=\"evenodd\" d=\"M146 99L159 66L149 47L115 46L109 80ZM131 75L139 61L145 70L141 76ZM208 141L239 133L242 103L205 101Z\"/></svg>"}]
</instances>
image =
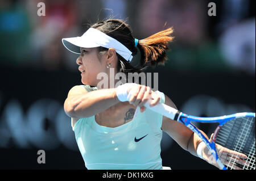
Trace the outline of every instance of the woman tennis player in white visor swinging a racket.
<instances>
[{"instance_id":1,"label":"woman tennis player in white visor swinging a racket","mask_svg":"<svg viewBox=\"0 0 256 181\"><path fill-rule=\"evenodd\" d=\"M141 73L147 66L163 64L166 50L172 41L172 28L138 40L128 24L108 19L94 24L80 37L64 38L65 48L79 54L76 63L81 71L82 85L68 92L64 110L71 125L87 169L168 169L162 166L160 141L167 132L181 148L218 167L204 142L185 125L143 105L152 99L151 106L164 103L176 108L168 96L138 83L110 87L110 69L114 73ZM131 60L141 53L141 68ZM102 89L99 73L108 75L108 89ZM114 83L119 80L114 79ZM177 108L176 108L177 109ZM211 138L209 139L211 140ZM221 146L217 151L243 155ZM169 168L170 169L170 168ZM237 167L237 169L240 169Z\"/></svg>"}]
</instances>

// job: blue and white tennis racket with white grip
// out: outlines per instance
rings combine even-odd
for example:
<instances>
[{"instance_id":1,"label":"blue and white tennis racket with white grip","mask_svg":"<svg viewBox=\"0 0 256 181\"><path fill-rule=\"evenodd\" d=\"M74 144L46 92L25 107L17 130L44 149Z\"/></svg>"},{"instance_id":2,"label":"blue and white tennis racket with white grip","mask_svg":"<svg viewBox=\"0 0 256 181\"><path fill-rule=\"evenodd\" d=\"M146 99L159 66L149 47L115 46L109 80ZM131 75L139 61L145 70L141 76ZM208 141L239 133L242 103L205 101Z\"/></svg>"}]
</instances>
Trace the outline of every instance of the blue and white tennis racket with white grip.
<instances>
[{"instance_id":1,"label":"blue and white tennis racket with white grip","mask_svg":"<svg viewBox=\"0 0 256 181\"><path fill-rule=\"evenodd\" d=\"M222 170L236 169L237 167L243 170L255 170L255 113L243 112L219 117L197 117L186 115L162 103L150 107L150 103L151 100L146 102L144 106L172 120L179 121L195 132L207 145L207 148ZM213 133L213 141L209 142L191 121L219 123ZM243 160L245 164L241 165L238 161L240 158L232 153L224 154L224 151L216 151L216 144L247 155L247 158Z\"/></svg>"}]
</instances>

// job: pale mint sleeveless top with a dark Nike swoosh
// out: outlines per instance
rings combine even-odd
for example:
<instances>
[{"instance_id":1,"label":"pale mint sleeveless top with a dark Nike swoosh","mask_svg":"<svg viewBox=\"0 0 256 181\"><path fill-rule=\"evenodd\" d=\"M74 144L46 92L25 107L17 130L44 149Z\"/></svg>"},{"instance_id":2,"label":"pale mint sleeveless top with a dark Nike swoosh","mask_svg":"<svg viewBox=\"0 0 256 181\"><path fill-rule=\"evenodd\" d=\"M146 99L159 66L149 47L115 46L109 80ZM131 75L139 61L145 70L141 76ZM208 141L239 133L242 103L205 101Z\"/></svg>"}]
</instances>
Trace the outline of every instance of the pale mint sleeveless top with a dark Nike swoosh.
<instances>
[{"instance_id":1,"label":"pale mint sleeveless top with a dark Nike swoosh","mask_svg":"<svg viewBox=\"0 0 256 181\"><path fill-rule=\"evenodd\" d=\"M81 85L84 86L84 85ZM85 85L89 91L97 87ZM164 103L164 94L155 91ZM73 127L76 142L87 169L93 170L148 170L162 169L160 157L162 117L146 109L119 127L109 128L96 123L95 117L79 119Z\"/></svg>"}]
</instances>

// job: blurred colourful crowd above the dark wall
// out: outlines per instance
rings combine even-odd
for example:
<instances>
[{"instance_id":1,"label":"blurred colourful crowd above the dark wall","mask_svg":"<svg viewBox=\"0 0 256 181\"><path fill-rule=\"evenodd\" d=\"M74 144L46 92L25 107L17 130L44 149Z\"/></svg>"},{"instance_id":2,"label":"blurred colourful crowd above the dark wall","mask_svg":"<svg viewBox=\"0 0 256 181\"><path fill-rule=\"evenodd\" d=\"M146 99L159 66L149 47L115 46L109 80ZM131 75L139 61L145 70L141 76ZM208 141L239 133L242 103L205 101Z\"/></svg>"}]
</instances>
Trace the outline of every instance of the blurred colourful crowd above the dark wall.
<instances>
[{"instance_id":1,"label":"blurred colourful crowd above the dark wall","mask_svg":"<svg viewBox=\"0 0 256 181\"><path fill-rule=\"evenodd\" d=\"M46 15L39 16L39 2ZM209 2L216 16L209 16ZM61 38L81 36L105 18L127 19L143 39L174 27L166 66L176 70L230 70L255 75L253 0L4 0L0 1L0 66L77 71L77 54Z\"/></svg>"}]
</instances>

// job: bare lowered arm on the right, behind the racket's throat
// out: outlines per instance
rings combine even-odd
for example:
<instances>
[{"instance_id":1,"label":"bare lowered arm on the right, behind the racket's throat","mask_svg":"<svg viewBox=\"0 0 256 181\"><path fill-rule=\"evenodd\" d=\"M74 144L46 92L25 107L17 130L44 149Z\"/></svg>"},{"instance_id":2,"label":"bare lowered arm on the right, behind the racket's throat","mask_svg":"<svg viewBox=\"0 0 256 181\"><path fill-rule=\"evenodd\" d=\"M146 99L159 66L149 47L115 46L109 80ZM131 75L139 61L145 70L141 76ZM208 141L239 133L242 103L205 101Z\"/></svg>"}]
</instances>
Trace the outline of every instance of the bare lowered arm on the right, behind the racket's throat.
<instances>
[{"instance_id":1,"label":"bare lowered arm on the right, behind the racket's throat","mask_svg":"<svg viewBox=\"0 0 256 181\"><path fill-rule=\"evenodd\" d=\"M175 104L172 102L168 96L165 95L164 104L176 108ZM189 151L191 154L197 156L196 149L199 143L202 141L197 134L194 134L189 128L185 125L174 121L166 116L163 116L162 130L171 136L181 148ZM207 135L201 131L205 137ZM207 137L208 138L208 137Z\"/></svg>"}]
</instances>

